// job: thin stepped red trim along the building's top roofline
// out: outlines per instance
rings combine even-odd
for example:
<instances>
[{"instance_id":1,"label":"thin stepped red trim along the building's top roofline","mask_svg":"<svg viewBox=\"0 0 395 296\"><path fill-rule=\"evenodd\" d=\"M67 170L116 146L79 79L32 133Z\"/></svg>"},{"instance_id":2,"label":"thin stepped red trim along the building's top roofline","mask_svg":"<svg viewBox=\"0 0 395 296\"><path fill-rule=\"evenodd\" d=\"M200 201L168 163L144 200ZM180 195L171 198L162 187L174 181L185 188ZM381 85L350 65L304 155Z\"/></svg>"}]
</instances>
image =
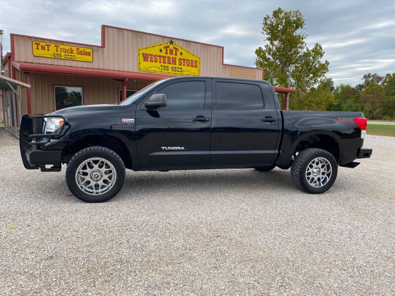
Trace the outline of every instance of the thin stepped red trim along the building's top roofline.
<instances>
[{"instance_id":1,"label":"thin stepped red trim along the building's top roofline","mask_svg":"<svg viewBox=\"0 0 395 296\"><path fill-rule=\"evenodd\" d=\"M28 37L28 38L42 39L42 40L48 40L48 41L64 42L64 43L70 43L70 44L76 44L76 45L78 44L78 45L84 45L84 46L102 47L102 48L104 48L104 47L106 47L106 34L105 34L105 28L106 27L107 28L114 28L114 29L118 29L118 30L125 30L125 31L135 32L135 33L147 34L147 35L152 35L152 36L157 36L157 37L170 38L170 39L176 39L176 40L181 40L181 41L193 42L193 43L197 43L197 44L203 44L203 45L219 47L219 48L222 49L222 65L224 65L224 66L241 67L241 68L249 68L249 69L258 69L258 70L264 71L262 68L224 64L224 46L215 45L215 44L209 44L209 43L203 43L203 42L198 42L198 41L193 41L193 40L188 40L188 39L182 39L182 38L177 38L177 37L169 37L169 36L164 36L164 35L158 35L158 34L153 34L153 33L148 33L148 32L143 32L143 31L136 31L136 30L126 29L126 28L119 28L119 27L109 26L109 25L101 25L101 45L86 44L86 43L79 43L79 42L72 42L72 41L65 41L65 40L58 40L58 39L43 38L43 37L37 37L37 36L29 36L29 35L22 35L22 34L11 33L10 34L11 52L15 52L15 50L14 50L14 38L13 38L14 36ZM12 61L15 61L15 57L13 57Z\"/></svg>"}]
</instances>

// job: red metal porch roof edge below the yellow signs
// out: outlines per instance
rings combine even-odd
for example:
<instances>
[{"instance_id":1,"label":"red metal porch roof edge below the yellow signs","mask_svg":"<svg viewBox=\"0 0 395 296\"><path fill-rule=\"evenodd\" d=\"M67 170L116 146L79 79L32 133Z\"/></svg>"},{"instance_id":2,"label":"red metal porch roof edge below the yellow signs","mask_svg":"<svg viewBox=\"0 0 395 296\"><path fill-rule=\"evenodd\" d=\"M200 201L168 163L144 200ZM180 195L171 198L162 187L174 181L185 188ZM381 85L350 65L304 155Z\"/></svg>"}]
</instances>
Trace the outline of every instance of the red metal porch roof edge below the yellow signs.
<instances>
[{"instance_id":1,"label":"red metal porch roof edge below the yellow signs","mask_svg":"<svg viewBox=\"0 0 395 296\"><path fill-rule=\"evenodd\" d=\"M92 77L105 77L115 79L136 79L145 81L157 81L164 78L170 78L174 76L159 75L159 74L148 74L148 73L135 73L115 70L104 70L94 68L82 68L82 67L69 67L69 66L57 66L48 64L38 63L27 63L27 62L13 62L13 66L26 72L40 72L40 73L56 73L66 75L78 75L78 76L92 76Z\"/></svg>"}]
</instances>

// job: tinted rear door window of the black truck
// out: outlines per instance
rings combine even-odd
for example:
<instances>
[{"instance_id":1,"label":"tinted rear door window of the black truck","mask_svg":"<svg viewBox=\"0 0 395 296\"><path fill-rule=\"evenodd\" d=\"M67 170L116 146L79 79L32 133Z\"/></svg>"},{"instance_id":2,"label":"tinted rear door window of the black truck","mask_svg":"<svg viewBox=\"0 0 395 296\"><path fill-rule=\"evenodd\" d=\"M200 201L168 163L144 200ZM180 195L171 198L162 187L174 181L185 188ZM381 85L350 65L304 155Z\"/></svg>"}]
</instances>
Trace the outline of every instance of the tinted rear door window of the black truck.
<instances>
[{"instance_id":1,"label":"tinted rear door window of the black truck","mask_svg":"<svg viewBox=\"0 0 395 296\"><path fill-rule=\"evenodd\" d=\"M263 108L261 89L255 84L217 82L217 110Z\"/></svg>"}]
</instances>

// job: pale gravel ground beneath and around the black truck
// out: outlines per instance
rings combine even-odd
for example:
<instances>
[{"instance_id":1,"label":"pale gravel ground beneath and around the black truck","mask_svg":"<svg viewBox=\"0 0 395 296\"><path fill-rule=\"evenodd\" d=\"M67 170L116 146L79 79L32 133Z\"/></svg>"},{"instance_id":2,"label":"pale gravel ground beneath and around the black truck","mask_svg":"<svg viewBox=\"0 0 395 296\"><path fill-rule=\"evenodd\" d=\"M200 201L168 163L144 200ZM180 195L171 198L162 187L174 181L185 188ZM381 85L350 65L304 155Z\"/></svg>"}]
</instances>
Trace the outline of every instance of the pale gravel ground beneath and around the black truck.
<instances>
[{"instance_id":1,"label":"pale gravel ground beneath and around the black truck","mask_svg":"<svg viewBox=\"0 0 395 296\"><path fill-rule=\"evenodd\" d=\"M321 195L289 170L128 171L102 204L17 144L0 130L0 295L395 294L395 138Z\"/></svg>"}]
</instances>

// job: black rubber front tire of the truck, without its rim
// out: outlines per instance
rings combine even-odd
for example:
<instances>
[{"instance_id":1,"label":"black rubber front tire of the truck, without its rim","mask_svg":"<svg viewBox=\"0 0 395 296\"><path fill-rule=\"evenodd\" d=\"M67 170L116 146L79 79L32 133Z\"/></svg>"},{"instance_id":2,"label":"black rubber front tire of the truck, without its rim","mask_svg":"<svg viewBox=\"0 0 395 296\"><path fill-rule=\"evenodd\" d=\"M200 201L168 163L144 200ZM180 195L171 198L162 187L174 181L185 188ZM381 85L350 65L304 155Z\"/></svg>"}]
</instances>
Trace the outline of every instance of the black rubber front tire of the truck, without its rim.
<instances>
[{"instance_id":1,"label":"black rubber front tire of the truck, without its rim","mask_svg":"<svg viewBox=\"0 0 395 296\"><path fill-rule=\"evenodd\" d=\"M110 161L116 171L117 179L115 184L109 189L109 191L99 194L90 195L83 192L76 182L76 171L79 165L89 158L100 157L105 160ZM102 146L92 146L88 148L83 148L77 152L69 161L66 169L66 183L69 190L80 200L85 202L104 202L117 195L119 190L123 186L125 180L125 165L119 155L113 150L102 147Z\"/></svg>"}]
</instances>

